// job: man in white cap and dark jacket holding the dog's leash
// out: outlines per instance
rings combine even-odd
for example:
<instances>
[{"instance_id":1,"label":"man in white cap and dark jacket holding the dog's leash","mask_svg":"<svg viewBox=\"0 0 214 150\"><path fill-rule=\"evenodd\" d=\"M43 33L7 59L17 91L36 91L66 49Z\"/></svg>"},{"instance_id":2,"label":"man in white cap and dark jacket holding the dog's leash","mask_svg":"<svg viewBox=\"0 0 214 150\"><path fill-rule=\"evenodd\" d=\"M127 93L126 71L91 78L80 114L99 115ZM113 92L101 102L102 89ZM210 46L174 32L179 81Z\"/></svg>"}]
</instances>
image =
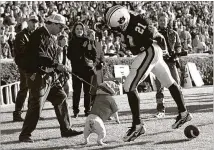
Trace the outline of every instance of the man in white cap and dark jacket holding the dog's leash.
<instances>
[{"instance_id":1,"label":"man in white cap and dark jacket holding the dog's leash","mask_svg":"<svg viewBox=\"0 0 214 150\"><path fill-rule=\"evenodd\" d=\"M52 14L46 19L45 26L35 30L30 37L27 47L29 51L25 55L24 65L24 69L30 74L27 78L30 98L19 136L20 142L33 142L31 133L36 128L46 99L54 106L62 137L76 136L83 133L71 129L67 96L56 73L56 71L67 71L64 65L58 63L57 44L53 37L64 28L67 28L65 24L64 16L57 13Z\"/></svg>"}]
</instances>

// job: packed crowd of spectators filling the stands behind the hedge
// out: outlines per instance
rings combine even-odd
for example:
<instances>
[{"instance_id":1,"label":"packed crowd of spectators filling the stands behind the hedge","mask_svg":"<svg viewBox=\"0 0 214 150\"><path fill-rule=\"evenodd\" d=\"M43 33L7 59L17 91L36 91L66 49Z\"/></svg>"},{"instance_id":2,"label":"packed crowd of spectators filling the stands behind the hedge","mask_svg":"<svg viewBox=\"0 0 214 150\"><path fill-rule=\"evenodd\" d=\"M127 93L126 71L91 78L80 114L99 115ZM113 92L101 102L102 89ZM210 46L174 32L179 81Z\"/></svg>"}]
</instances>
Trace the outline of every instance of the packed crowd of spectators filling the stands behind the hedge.
<instances>
[{"instance_id":1,"label":"packed crowd of spectators filling the stands behind the hedge","mask_svg":"<svg viewBox=\"0 0 214 150\"><path fill-rule=\"evenodd\" d=\"M45 18L53 13L66 17L69 27L68 34L73 25L80 21L85 26L85 35L88 29L96 31L96 41L102 45L106 56L131 56L125 51L123 37L107 29L100 29L104 21L106 8L115 3L127 6L131 11L150 17L154 25L158 26L158 14L166 12L171 19L169 24L179 33L183 49L189 53L213 53L213 5L212 2L60 2L60 1L10 1L0 4L1 25L1 53L0 58L14 57L14 39L16 33L27 27L26 21L34 14L39 17L39 27L44 25Z\"/></svg>"}]
</instances>

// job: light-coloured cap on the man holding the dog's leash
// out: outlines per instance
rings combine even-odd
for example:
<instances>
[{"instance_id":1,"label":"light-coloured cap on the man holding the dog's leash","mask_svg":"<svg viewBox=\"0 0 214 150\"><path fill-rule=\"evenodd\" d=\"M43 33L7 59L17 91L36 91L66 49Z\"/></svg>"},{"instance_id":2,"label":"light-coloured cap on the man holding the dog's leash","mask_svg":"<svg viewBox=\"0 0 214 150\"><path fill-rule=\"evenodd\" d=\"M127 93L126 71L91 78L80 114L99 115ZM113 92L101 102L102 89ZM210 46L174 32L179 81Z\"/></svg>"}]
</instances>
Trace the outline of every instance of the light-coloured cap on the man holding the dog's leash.
<instances>
[{"instance_id":1,"label":"light-coloured cap on the man holding the dog's leash","mask_svg":"<svg viewBox=\"0 0 214 150\"><path fill-rule=\"evenodd\" d=\"M57 13L52 14L49 17L47 17L46 21L50 21L53 23L59 23L59 24L62 24L64 26L64 28L68 28L68 26L66 25L65 17L60 14L57 14Z\"/></svg>"}]
</instances>

